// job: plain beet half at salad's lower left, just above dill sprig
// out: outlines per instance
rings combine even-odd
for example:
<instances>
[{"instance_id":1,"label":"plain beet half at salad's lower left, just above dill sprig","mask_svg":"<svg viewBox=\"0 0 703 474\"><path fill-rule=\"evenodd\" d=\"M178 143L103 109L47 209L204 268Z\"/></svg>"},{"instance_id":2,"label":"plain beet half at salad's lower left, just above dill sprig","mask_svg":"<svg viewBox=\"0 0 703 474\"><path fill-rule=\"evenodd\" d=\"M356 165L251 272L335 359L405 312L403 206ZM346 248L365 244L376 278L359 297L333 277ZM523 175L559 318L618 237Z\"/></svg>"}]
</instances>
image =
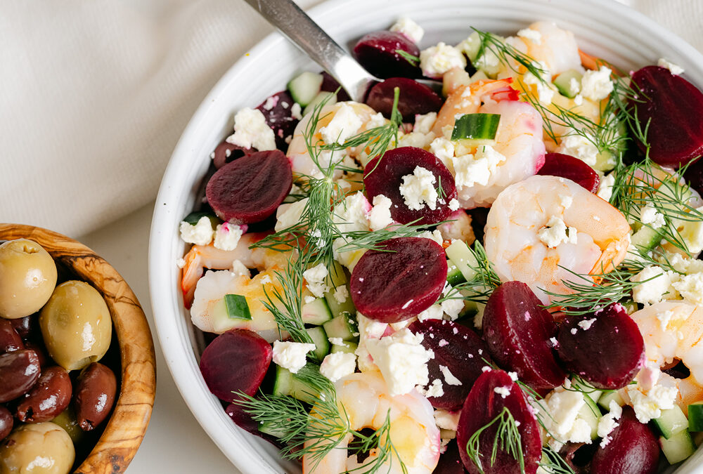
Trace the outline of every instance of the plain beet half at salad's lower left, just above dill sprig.
<instances>
[{"instance_id":1,"label":"plain beet half at salad's lower left, just above dill sprig","mask_svg":"<svg viewBox=\"0 0 703 474\"><path fill-rule=\"evenodd\" d=\"M236 392L257 392L271 364L271 352L271 345L255 332L230 329L202 351L200 373L216 397L231 402Z\"/></svg>"}]
</instances>

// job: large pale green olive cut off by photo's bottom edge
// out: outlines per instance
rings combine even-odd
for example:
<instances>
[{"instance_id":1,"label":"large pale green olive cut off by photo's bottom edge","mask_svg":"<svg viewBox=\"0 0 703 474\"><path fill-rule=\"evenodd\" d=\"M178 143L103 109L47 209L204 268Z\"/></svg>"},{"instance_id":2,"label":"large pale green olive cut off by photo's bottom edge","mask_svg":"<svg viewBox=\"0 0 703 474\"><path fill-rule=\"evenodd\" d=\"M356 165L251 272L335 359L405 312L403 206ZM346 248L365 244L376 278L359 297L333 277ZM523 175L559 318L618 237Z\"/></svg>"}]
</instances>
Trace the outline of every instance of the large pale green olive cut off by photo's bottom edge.
<instances>
[{"instance_id":1,"label":"large pale green olive cut off by photo's bottom edge","mask_svg":"<svg viewBox=\"0 0 703 474\"><path fill-rule=\"evenodd\" d=\"M67 474L75 456L71 437L60 426L22 425L0 443L0 473Z\"/></svg>"}]
</instances>

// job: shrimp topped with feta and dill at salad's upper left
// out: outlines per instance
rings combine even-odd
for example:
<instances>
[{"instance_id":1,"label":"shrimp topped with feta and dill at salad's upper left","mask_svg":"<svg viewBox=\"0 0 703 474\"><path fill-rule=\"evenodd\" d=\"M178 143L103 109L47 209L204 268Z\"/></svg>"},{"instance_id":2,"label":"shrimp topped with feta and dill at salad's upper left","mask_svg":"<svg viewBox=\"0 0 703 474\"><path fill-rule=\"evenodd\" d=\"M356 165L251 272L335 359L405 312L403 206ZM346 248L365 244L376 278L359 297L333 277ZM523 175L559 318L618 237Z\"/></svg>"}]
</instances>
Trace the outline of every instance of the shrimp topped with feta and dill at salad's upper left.
<instances>
[{"instance_id":1,"label":"shrimp topped with feta and dill at salad's upper left","mask_svg":"<svg viewBox=\"0 0 703 474\"><path fill-rule=\"evenodd\" d=\"M320 118L315 127L313 136L311 137L311 142L313 144L324 143L325 140L323 140L323 133L321 129L323 129L323 127L329 126L330 122L332 122L338 114L340 115L340 117L342 116L342 114L354 115L356 119L358 119L358 121L352 119L342 124L343 127L340 128L342 138L348 138L349 136L354 136L357 133L361 133L368 129L372 129L373 127L387 123L387 120L384 119L381 114L378 114L375 110L373 110L366 104L360 104L356 102L340 102L336 104L325 105L325 107L323 107L320 112ZM305 117L303 117L299 124L297 124L297 126L295 127L295 131L293 132L293 138L292 140L290 140L290 145L288 145L288 152L286 153L286 156L290 160L290 165L292 166L294 177L314 176L316 173L320 172L320 169L318 169L318 166L311 159L310 154L308 153L307 143L305 140L305 133L309 127L309 122L311 120L312 115L313 114L307 114ZM345 130L344 127L351 127L353 130ZM337 136L340 136L340 132L336 132L336 129L335 133L337 133ZM337 138L337 136L335 136L335 138ZM347 148L346 151L349 157L356 157L358 159L361 159L362 165L366 164L363 161L368 161L368 157L362 156L364 151L368 151L366 147L350 147ZM335 153L335 159L341 159L341 157L341 152ZM323 151L321 152L318 159L321 162L320 164L325 166L328 165L328 163L325 163L325 160L329 162L332 157L330 157L330 154L328 152ZM341 176L342 171L335 171L335 178L340 178Z\"/></svg>"}]
</instances>

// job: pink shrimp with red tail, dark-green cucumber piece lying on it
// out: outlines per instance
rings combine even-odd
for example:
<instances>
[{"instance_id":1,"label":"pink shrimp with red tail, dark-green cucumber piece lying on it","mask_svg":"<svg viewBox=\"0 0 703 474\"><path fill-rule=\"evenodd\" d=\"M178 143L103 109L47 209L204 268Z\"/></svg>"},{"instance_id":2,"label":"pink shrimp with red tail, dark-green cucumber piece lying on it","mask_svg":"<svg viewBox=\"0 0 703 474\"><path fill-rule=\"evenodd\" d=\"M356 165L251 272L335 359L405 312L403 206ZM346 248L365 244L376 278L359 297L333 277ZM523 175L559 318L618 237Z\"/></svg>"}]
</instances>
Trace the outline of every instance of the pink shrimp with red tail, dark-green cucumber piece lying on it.
<instances>
[{"instance_id":1,"label":"pink shrimp with red tail, dark-green cucumber piece lying on it","mask_svg":"<svg viewBox=\"0 0 703 474\"><path fill-rule=\"evenodd\" d=\"M542 117L531 105L517 100L512 79L478 81L458 86L447 98L434 123L437 136L451 133L457 115L476 112L501 116L496 143L476 150L454 152L448 166L456 181L457 199L464 209L490 206L512 183L534 175L544 164Z\"/></svg>"}]
</instances>

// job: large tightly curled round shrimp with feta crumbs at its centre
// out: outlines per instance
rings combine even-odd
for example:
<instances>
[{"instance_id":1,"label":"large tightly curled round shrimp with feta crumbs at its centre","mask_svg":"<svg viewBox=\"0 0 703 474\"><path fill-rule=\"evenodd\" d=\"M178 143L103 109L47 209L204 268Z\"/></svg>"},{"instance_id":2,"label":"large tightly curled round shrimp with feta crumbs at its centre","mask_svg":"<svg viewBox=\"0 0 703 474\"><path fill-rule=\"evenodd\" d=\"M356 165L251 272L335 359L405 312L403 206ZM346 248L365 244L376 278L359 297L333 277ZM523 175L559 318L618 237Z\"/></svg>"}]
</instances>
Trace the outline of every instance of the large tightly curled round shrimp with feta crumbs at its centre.
<instances>
[{"instance_id":1,"label":"large tightly curled round shrimp with feta crumbs at its centre","mask_svg":"<svg viewBox=\"0 0 703 474\"><path fill-rule=\"evenodd\" d=\"M555 242L559 227L562 238ZM546 291L571 294L565 281L583 284L574 273L598 275L616 267L627 252L629 230L620 211L572 180L531 176L507 187L491 206L484 246L501 281L524 282L549 303Z\"/></svg>"}]
</instances>

